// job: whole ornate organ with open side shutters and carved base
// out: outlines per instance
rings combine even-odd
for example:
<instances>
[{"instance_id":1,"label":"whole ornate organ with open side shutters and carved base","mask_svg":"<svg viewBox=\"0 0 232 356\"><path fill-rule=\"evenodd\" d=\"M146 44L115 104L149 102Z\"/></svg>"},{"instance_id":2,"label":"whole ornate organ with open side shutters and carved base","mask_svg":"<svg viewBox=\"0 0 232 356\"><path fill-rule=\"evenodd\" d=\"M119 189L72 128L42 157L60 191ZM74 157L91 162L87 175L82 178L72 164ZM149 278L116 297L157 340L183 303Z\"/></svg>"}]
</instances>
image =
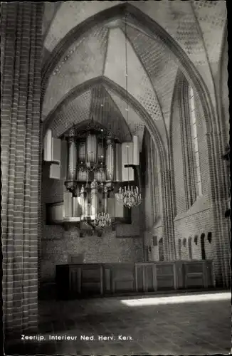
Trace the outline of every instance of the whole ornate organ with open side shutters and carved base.
<instances>
[{"instance_id":1,"label":"whole ornate organ with open side shutters and carved base","mask_svg":"<svg viewBox=\"0 0 232 356\"><path fill-rule=\"evenodd\" d=\"M73 125L60 138L48 130L43 159L49 162L49 177L64 183L63 201L48 204L48 224L75 224L98 234L117 222L130 224L130 208L141 203L135 184L139 137L119 142L92 119L85 126Z\"/></svg>"}]
</instances>

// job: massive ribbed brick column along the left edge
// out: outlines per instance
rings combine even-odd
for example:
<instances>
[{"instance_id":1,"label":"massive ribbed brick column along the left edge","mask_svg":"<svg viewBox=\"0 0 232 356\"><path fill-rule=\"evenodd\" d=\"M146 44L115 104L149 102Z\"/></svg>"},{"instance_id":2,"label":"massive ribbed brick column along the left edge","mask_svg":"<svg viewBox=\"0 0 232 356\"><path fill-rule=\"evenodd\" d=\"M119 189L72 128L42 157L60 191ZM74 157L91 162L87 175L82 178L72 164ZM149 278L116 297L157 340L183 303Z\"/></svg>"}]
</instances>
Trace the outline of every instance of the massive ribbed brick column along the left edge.
<instances>
[{"instance_id":1,"label":"massive ribbed brick column along the left edge","mask_svg":"<svg viewBox=\"0 0 232 356\"><path fill-rule=\"evenodd\" d=\"M36 330L43 3L1 4L4 332Z\"/></svg>"}]
</instances>

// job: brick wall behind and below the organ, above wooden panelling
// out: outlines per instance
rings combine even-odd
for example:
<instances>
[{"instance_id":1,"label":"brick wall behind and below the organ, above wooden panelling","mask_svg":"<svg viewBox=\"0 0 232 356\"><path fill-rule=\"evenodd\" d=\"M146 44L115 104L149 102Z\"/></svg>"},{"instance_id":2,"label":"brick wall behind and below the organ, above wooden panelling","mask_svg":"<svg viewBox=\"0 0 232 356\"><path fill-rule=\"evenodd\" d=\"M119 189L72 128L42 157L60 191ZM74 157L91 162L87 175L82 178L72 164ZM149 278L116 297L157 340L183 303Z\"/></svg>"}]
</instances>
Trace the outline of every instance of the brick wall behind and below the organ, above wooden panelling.
<instances>
[{"instance_id":1,"label":"brick wall behind and below the organ, above wooden panelling","mask_svg":"<svg viewBox=\"0 0 232 356\"><path fill-rule=\"evenodd\" d=\"M65 231L62 226L46 225L46 203L63 201L62 180L49 179L43 170L43 238L41 240L41 282L52 282L56 264L68 263L70 254L83 253L85 263L143 261L142 230L139 208L132 209L132 224L109 229L102 237L79 237L77 228Z\"/></svg>"}]
</instances>

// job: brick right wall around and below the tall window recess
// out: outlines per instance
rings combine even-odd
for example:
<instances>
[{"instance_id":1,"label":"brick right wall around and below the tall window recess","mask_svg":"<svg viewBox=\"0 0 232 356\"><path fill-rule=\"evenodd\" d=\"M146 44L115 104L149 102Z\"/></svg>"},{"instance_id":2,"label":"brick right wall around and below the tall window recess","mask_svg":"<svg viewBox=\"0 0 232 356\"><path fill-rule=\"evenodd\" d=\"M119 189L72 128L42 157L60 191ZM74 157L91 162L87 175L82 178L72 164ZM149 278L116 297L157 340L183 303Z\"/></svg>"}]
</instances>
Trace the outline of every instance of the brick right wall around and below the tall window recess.
<instances>
[{"instance_id":1,"label":"brick right wall around and below the tall window recess","mask_svg":"<svg viewBox=\"0 0 232 356\"><path fill-rule=\"evenodd\" d=\"M196 126L199 140L199 158L201 167L202 197L196 199L189 209L186 207L186 192L184 189L184 162L183 142L181 142L180 107L176 92L172 112L172 147L174 182L176 194L176 216L174 217L174 236L176 244L176 258L179 259L201 259L201 234L205 234L206 258L216 256L216 236L213 231L213 210L210 198L210 174L209 174L209 152L207 146L206 122L199 96L196 95ZM187 120L187 117L185 117ZM212 233L212 241L209 244L208 233ZM197 244L194 237L198 236ZM191 256L189 253L189 239L191 241ZM186 244L185 244L186 242ZM181 243L181 256L179 256L179 244Z\"/></svg>"}]
</instances>

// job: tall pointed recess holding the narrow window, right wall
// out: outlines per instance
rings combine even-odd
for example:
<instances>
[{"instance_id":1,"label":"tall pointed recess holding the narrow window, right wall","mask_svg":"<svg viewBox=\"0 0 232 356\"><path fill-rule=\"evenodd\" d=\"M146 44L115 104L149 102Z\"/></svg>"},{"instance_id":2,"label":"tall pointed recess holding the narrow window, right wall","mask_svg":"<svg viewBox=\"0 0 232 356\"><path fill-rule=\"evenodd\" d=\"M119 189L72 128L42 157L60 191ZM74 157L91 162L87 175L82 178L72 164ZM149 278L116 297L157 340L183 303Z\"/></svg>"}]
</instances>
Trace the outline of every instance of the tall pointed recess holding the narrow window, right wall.
<instances>
[{"instance_id":1,"label":"tall pointed recess holding the narrow window, right wall","mask_svg":"<svg viewBox=\"0 0 232 356\"><path fill-rule=\"evenodd\" d=\"M206 159L209 158L209 145L207 150L205 150L205 146L209 143L205 142L206 120L201 120L201 103L199 103L199 100L197 103L198 105L196 105L195 93L191 90L191 85L188 80L186 80L184 74L179 71L176 77L175 93L172 101L170 153L172 175L175 178L177 176L177 179L173 179L173 182L175 184L176 180L179 187L179 179L181 179L181 189L184 187L184 201L181 201L181 206L185 204L186 211L191 208L196 198L202 195L201 169L199 168L201 162L199 156L202 155L203 150ZM192 137L193 125L196 127L196 132L194 131L194 136L196 136L194 141ZM204 142L204 145L202 145L202 142ZM176 159L178 162L176 162ZM198 164L196 162L198 162ZM178 187L176 189L178 189ZM204 193L206 193L206 189ZM174 195L178 195L178 192L174 192ZM174 197L174 202L176 213L176 197ZM182 213L184 211L179 212Z\"/></svg>"}]
</instances>

